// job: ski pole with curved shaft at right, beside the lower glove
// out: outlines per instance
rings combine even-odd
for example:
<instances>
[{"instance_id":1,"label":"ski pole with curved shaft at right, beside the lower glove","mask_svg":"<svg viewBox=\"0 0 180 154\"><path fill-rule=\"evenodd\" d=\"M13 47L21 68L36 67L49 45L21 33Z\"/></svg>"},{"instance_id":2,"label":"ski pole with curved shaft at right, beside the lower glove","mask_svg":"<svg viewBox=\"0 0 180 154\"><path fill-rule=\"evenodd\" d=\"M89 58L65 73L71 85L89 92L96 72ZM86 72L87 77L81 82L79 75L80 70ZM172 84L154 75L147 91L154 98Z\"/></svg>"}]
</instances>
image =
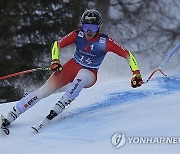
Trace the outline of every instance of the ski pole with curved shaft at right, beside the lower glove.
<instances>
[{"instance_id":1,"label":"ski pole with curved shaft at right, beside the lower glove","mask_svg":"<svg viewBox=\"0 0 180 154\"><path fill-rule=\"evenodd\" d=\"M155 69L150 74L148 79L145 82L143 82L143 83L147 83L157 71L159 71L162 75L167 76L167 74L165 74L161 69L169 61L169 59L174 55L174 53L176 53L178 51L179 47L180 47L180 43L166 56L165 60L159 65L159 67L157 69Z\"/></svg>"}]
</instances>

